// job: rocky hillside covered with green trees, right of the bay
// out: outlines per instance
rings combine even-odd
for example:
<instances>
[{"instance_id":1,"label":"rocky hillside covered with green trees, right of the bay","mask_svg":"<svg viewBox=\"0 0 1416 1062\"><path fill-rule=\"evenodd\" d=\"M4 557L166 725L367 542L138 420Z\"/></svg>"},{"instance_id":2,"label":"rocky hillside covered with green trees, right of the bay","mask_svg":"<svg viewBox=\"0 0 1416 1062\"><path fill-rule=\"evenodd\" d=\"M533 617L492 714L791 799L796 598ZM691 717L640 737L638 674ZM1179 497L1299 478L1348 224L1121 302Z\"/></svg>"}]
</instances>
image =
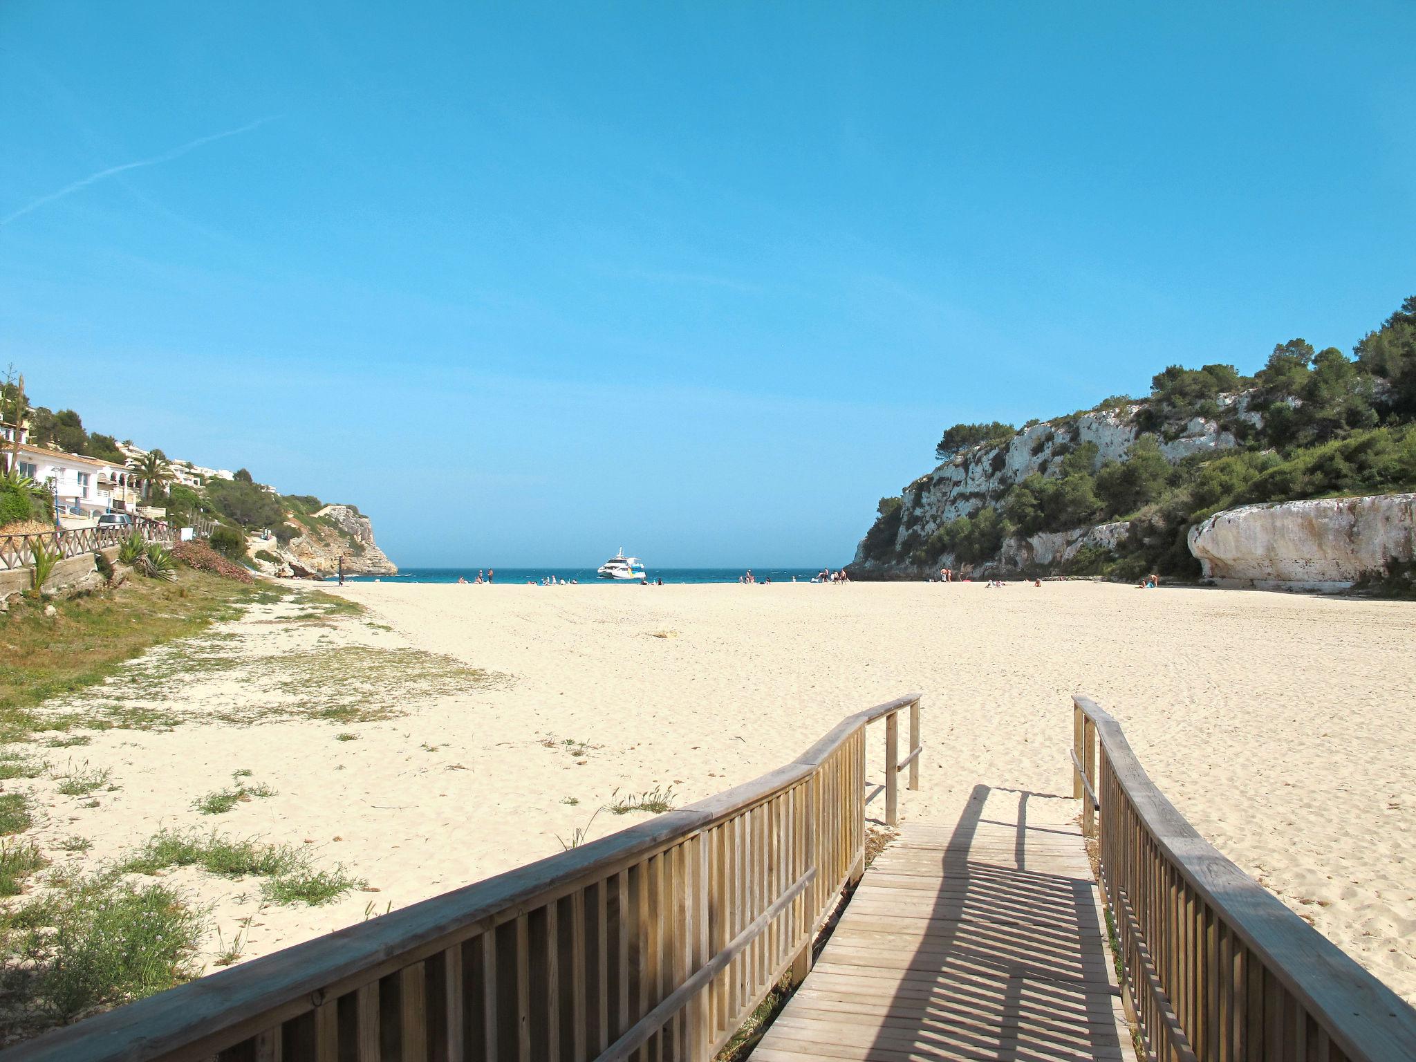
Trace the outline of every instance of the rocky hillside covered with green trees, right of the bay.
<instances>
[{"instance_id":1,"label":"rocky hillside covered with green trees, right of the bay","mask_svg":"<svg viewBox=\"0 0 1416 1062\"><path fill-rule=\"evenodd\" d=\"M1252 377L1170 365L1146 398L1017 429L953 425L936 457L933 473L881 498L858 576L950 566L1198 578L1187 534L1216 511L1416 489L1416 296L1352 355L1296 338ZM1061 565L1027 561L1025 539L1099 525L1117 525L1109 545Z\"/></svg>"}]
</instances>

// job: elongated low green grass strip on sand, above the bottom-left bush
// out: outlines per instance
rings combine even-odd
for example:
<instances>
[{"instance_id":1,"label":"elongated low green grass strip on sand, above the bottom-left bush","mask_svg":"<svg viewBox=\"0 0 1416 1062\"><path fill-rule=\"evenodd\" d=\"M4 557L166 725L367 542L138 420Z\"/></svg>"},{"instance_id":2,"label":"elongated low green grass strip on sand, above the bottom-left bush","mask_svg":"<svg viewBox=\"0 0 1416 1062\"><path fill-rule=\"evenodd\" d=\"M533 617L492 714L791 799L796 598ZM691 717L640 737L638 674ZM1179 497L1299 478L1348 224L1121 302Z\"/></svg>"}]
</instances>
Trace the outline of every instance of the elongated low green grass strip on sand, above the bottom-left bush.
<instances>
[{"instance_id":1,"label":"elongated low green grass strip on sand, above the bottom-left bush","mask_svg":"<svg viewBox=\"0 0 1416 1062\"><path fill-rule=\"evenodd\" d=\"M367 885L344 872L314 867L309 851L289 844L265 844L258 838L222 834L159 830L147 843L118 864L120 874L157 874L169 867L201 867L221 878L248 875L269 878L262 886L273 903L327 903L350 889Z\"/></svg>"}]
</instances>

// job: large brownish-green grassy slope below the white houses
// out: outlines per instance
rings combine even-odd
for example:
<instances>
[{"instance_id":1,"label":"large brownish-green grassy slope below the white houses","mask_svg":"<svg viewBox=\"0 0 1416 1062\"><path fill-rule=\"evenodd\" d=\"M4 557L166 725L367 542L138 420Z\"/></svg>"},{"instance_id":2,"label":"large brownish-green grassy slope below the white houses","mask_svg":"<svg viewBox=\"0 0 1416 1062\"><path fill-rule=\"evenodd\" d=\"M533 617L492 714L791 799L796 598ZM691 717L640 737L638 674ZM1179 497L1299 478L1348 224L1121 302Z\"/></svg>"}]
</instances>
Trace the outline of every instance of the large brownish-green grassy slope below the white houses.
<instances>
[{"instance_id":1,"label":"large brownish-green grassy slope below the white houses","mask_svg":"<svg viewBox=\"0 0 1416 1062\"><path fill-rule=\"evenodd\" d=\"M129 579L116 590L51 602L52 617L42 602L20 599L0 617L0 742L47 728L27 708L102 683L123 661L234 619L270 593L178 568L174 582Z\"/></svg>"}]
</instances>

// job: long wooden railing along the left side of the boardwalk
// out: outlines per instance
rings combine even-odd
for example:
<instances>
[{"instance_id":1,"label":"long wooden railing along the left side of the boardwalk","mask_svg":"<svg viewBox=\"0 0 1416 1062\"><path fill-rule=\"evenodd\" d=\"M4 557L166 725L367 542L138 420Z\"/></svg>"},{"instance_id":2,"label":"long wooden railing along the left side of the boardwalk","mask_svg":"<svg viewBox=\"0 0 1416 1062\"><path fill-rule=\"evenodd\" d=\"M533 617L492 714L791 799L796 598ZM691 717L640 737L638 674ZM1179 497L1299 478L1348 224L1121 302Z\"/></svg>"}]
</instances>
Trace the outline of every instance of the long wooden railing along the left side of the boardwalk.
<instances>
[{"instance_id":1,"label":"long wooden railing along the left side of the boardwalk","mask_svg":"<svg viewBox=\"0 0 1416 1062\"><path fill-rule=\"evenodd\" d=\"M865 728L678 811L59 1029L6 1062L707 1062L865 860ZM886 784L895 792L895 775ZM918 787L919 769L910 770ZM893 814L893 811L891 813Z\"/></svg>"}]
</instances>

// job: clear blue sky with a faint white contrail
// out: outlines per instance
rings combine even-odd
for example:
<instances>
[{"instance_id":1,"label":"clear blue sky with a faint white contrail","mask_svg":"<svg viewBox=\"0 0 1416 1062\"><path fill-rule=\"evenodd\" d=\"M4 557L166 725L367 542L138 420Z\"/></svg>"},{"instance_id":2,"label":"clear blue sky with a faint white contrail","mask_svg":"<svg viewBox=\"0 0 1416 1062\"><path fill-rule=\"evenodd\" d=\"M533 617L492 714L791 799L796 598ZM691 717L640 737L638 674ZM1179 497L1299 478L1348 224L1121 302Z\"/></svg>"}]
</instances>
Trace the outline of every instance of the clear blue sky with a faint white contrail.
<instances>
[{"instance_id":1,"label":"clear blue sky with a faint white contrail","mask_svg":"<svg viewBox=\"0 0 1416 1062\"><path fill-rule=\"evenodd\" d=\"M1416 292L1413 35L1408 3L7 0L0 364L353 501L404 565L843 564L949 423L1348 348Z\"/></svg>"}]
</instances>

